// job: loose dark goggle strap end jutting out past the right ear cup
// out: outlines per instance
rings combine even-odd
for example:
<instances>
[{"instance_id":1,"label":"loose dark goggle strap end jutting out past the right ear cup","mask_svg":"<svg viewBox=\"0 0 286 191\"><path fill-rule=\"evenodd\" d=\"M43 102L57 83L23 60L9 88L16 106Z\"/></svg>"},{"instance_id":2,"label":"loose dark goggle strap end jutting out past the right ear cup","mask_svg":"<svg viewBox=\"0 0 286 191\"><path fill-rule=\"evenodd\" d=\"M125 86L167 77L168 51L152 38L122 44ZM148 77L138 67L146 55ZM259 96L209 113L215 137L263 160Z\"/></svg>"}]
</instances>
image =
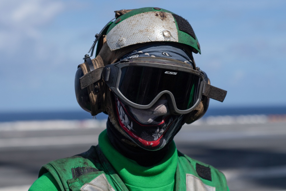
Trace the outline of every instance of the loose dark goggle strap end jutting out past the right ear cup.
<instances>
[{"instance_id":1,"label":"loose dark goggle strap end jutting out past the right ear cup","mask_svg":"<svg viewBox=\"0 0 286 191\"><path fill-rule=\"evenodd\" d=\"M227 91L205 83L202 94L211 99L223 102L225 96L227 95Z\"/></svg>"}]
</instances>

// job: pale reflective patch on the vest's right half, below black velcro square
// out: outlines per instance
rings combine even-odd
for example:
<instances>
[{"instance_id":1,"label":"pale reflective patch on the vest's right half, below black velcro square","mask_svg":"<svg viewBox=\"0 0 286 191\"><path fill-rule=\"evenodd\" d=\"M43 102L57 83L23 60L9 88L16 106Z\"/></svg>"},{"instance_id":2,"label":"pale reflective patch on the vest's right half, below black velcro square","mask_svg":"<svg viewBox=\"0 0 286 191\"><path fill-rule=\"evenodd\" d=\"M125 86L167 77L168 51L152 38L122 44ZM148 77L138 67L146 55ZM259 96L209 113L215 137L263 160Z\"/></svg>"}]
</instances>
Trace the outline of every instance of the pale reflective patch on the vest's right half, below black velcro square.
<instances>
[{"instance_id":1,"label":"pale reflective patch on the vest's right half, below black velcro square","mask_svg":"<svg viewBox=\"0 0 286 191\"><path fill-rule=\"evenodd\" d=\"M215 191L215 187L204 184L192 174L186 174L186 191Z\"/></svg>"}]
</instances>

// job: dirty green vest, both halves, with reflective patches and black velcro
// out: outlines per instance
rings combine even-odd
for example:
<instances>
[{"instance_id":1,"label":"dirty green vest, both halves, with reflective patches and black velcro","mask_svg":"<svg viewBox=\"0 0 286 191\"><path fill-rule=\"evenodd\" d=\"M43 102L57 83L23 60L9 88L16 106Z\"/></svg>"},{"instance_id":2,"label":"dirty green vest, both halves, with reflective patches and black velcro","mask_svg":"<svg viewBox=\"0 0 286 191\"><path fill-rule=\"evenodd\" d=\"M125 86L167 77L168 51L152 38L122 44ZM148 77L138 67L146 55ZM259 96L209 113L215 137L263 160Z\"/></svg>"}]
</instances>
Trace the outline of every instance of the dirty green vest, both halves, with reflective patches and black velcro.
<instances>
[{"instance_id":1,"label":"dirty green vest, both halves, with reflective patches and black velcro","mask_svg":"<svg viewBox=\"0 0 286 191\"><path fill-rule=\"evenodd\" d=\"M39 177L50 172L62 191L128 190L99 146L68 158L49 162ZM225 176L212 166L178 151L174 190L229 191Z\"/></svg>"}]
</instances>

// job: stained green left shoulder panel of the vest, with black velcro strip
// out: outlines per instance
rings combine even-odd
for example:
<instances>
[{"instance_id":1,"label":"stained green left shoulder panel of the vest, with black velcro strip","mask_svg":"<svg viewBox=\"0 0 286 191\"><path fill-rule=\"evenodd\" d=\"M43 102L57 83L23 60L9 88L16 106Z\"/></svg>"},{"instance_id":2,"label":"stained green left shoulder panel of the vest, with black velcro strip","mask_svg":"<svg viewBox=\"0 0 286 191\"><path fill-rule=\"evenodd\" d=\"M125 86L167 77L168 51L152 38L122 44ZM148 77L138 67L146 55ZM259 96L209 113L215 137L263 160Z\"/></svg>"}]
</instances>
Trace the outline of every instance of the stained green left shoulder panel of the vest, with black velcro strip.
<instances>
[{"instance_id":1,"label":"stained green left shoulder panel of the vest, with black velcro strip","mask_svg":"<svg viewBox=\"0 0 286 191\"><path fill-rule=\"evenodd\" d=\"M91 182L105 182L110 189L128 190L98 145L79 155L49 162L42 166L39 177L46 172L52 174L62 191L88 189L94 186Z\"/></svg>"}]
</instances>

